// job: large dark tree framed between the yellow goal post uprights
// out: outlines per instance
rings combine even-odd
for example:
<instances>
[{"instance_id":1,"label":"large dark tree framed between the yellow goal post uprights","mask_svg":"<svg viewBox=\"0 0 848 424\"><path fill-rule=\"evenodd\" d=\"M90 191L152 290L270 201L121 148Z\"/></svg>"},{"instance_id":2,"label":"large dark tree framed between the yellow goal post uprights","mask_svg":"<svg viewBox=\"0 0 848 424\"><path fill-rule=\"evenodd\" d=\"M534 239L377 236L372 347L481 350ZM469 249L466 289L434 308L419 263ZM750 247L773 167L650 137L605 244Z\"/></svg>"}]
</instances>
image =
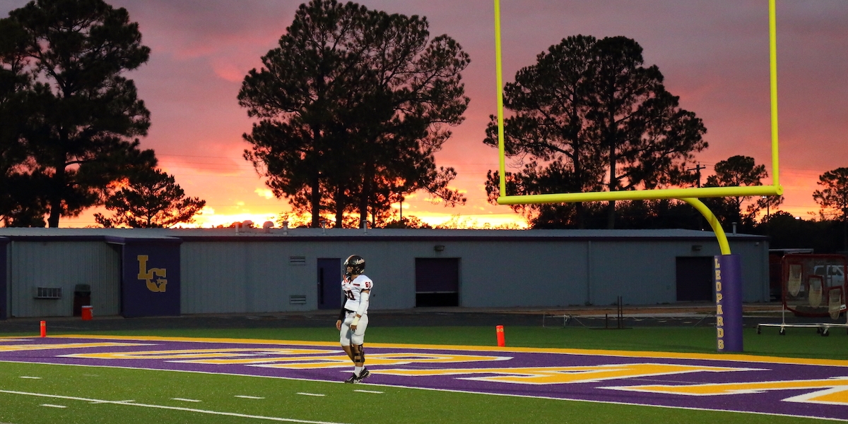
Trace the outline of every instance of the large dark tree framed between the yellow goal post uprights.
<instances>
[{"instance_id":1,"label":"large dark tree framed between the yellow goal post uprights","mask_svg":"<svg viewBox=\"0 0 848 424\"><path fill-rule=\"evenodd\" d=\"M570 174L561 179L568 186L555 187L559 192L691 184L685 168L693 152L706 148L706 128L666 91L660 70L642 64L642 47L622 36L570 36L539 53L536 64L505 85L504 105L514 112L505 120L506 154L536 158L543 168L556 163L556 173ZM484 143L498 144L494 116ZM552 192L533 184L524 189L518 194ZM583 228L583 205L574 211L569 219ZM615 226L614 201L606 226Z\"/></svg>"}]
</instances>

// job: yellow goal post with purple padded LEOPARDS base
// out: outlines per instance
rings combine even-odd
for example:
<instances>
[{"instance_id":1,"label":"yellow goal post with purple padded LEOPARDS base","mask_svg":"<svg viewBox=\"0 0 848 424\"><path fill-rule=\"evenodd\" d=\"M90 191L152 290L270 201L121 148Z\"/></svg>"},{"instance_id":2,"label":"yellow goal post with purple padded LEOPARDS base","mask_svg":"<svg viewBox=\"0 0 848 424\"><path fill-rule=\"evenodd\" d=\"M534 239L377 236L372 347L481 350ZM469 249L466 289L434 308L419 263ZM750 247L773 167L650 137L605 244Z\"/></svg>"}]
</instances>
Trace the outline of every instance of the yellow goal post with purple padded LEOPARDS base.
<instances>
[{"instance_id":1,"label":"yellow goal post with purple padded LEOPARDS base","mask_svg":"<svg viewBox=\"0 0 848 424\"><path fill-rule=\"evenodd\" d=\"M698 187L684 189L656 189L656 190L628 190L628 191L595 191L581 193L551 193L541 195L509 195L506 193L505 179L505 148L504 148L504 76L501 54L501 36L500 36L500 0L494 0L494 49L495 49L495 72L498 85L498 157L499 157L499 189L498 197L499 205L526 205L526 204L541 204L541 203L572 203L583 201L636 201L636 200L656 200L656 199L678 199L685 201L695 207L710 223L713 232L716 234L718 245L721 248L722 256L731 255L730 245L728 244L727 235L724 234L721 223L718 222L715 214L706 207L704 202L700 201L700 197L739 197L739 196L756 196L756 195L782 195L784 193L783 186L780 185L779 179L779 163L778 163L778 62L777 62L777 26L775 24L775 0L768 0L768 47L769 47L769 80L771 91L771 124L772 124L772 184L771 185L755 185L755 186L735 186L735 187ZM717 298L717 316L722 312L722 298L737 297L735 295L722 296L722 270L720 269L722 261L725 258L716 256L716 298ZM735 257L735 256L734 256ZM729 257L727 259L730 259ZM727 284L729 268L732 268L734 273L739 273L738 257L735 258L733 264L725 266L725 287L729 285L741 285L741 282L735 284ZM740 278L740 277L739 277ZM734 278L735 279L735 278ZM736 287L735 289L740 288ZM735 290L734 290L735 291ZM741 351L741 293L738 300L734 299L734 303L739 303L739 322L735 318L732 323L733 327L739 327L739 343L731 343L733 346L725 346L724 338L722 338L723 321L728 325L727 317L724 320L717 319L718 327L718 350ZM724 308L724 309L736 309ZM735 313L733 315L736 315ZM719 317L717 317L719 318ZM736 333L734 331L734 333ZM735 334L734 334L735 338ZM728 340L729 342L729 340Z\"/></svg>"}]
</instances>

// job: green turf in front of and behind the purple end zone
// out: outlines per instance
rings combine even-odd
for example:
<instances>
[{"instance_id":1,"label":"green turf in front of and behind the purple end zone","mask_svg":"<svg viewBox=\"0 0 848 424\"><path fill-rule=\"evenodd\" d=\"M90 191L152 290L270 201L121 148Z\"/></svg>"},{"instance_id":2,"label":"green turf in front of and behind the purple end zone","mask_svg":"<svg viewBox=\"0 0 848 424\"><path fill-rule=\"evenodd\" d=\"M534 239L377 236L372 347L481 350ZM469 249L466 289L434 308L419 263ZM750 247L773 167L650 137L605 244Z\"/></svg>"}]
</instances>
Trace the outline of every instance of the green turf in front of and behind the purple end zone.
<instances>
[{"instance_id":1,"label":"green turf in front of and behind the purple end zone","mask_svg":"<svg viewBox=\"0 0 848 424\"><path fill-rule=\"evenodd\" d=\"M505 329L507 345L516 347L703 353L715 352L714 331L713 328ZM108 334L317 341L338 338L334 328L175 329ZM22 336L20 333L9 335ZM369 328L368 333L368 341L371 343L494 345L494 340L494 328L374 327ZM753 329L745 330L745 353L752 355L844 360L848 359L846 346L848 336L841 332L821 337L814 330L795 330L785 336L778 335L776 331L756 334ZM363 389L382 393L356 391ZM786 416L451 393L373 384L347 385L193 372L11 362L0 362L0 390L5 391L0 393L0 423L4 424L267 421L369 424L833 422ZM45 398L8 392L62 397ZM98 400L113 403L98 403ZM116 400L132 400L137 405L116 405Z\"/></svg>"}]
</instances>

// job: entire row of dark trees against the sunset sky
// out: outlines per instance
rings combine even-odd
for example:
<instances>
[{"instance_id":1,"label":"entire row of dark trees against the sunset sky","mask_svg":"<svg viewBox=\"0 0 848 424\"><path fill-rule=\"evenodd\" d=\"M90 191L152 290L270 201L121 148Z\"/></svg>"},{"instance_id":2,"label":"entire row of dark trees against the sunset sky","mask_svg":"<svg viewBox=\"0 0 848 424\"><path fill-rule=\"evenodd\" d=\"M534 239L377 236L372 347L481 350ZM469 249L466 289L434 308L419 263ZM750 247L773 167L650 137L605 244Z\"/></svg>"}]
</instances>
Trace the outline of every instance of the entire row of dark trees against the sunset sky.
<instances>
[{"instance_id":1,"label":"entire row of dark trees against the sunset sky","mask_svg":"<svg viewBox=\"0 0 848 424\"><path fill-rule=\"evenodd\" d=\"M642 52L624 36L567 36L516 72L504 89L510 195L762 184L765 166L741 155L702 180L706 125ZM203 208L140 147L150 112L124 74L150 54L126 9L103 0L36 0L0 19L4 225L56 227L106 206L103 226L167 227ZM243 158L292 216L310 227L422 228L392 206L421 192L465 204L455 169L434 154L463 122L471 58L450 36L431 36L427 18L312 0L261 61L237 96L255 119ZM494 115L481 139L498 145ZM820 222L810 225L845 222L846 180L848 168L823 173ZM498 173L482 182L494 202ZM784 218L780 197L702 201L728 231L773 231ZM705 228L673 200L511 207L534 229Z\"/></svg>"}]
</instances>

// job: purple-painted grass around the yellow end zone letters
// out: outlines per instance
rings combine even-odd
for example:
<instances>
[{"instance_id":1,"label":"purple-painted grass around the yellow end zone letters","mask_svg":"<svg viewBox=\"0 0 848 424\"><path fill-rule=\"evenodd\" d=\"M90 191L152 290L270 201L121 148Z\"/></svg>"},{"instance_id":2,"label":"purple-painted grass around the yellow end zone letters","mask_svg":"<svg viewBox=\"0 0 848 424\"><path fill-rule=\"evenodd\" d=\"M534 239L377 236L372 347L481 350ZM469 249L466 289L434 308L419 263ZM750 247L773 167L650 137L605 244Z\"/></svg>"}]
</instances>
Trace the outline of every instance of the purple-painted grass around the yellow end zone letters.
<instances>
[{"instance_id":1,"label":"purple-painted grass around the yellow end zone letters","mask_svg":"<svg viewBox=\"0 0 848 424\"><path fill-rule=\"evenodd\" d=\"M27 341L2 341L0 349L10 344L70 344L70 343L143 343L144 346L114 346L85 349L52 349L0 351L0 361L19 361L49 364L70 364L85 366L121 366L153 370L178 370L190 372L220 372L244 376L264 376L298 378L315 381L340 382L348 377L353 366L292 370L248 365L210 365L176 362L161 359L89 359L70 358L62 355L98 352L132 352L153 350L209 350L209 349L321 349L338 350L332 347L302 344L238 344L186 341L148 341L131 339L68 339L46 338ZM343 355L339 350L339 355ZM609 387L645 385L645 384L702 384L702 383L753 383L766 381L811 380L834 377L848 378L846 366L820 366L798 364L775 364L744 361L711 361L674 358L637 358L629 356L574 355L565 353L527 353L527 352L490 352L469 350L432 350L432 349L396 349L368 346L368 355L387 353L410 354L455 354L510 356L508 361L478 361L459 363L410 363L400 366L369 366L371 377L367 383L409 388L432 388L459 390L480 394L508 394L554 399L575 399L601 402L616 402L634 405L660 405L671 407L695 408L706 410L731 410L740 412L762 412L789 416L809 416L817 418L848 419L848 404L823 405L816 403L789 402L784 399L812 393L820 389L770 390L755 394L732 394L711 396L685 396L678 394L653 394L612 390ZM259 355L261 357L261 355ZM663 363L688 366L723 366L729 368L755 368L755 371L737 372L689 372L661 375L655 377L631 377L605 380L595 383L560 384L516 384L473 381L467 377L485 375L450 375L428 377L402 377L381 374L381 369L444 369L444 368L514 368L524 366L603 366L611 364ZM848 387L845 387L848 390ZM843 399L845 396L843 396Z\"/></svg>"}]
</instances>

